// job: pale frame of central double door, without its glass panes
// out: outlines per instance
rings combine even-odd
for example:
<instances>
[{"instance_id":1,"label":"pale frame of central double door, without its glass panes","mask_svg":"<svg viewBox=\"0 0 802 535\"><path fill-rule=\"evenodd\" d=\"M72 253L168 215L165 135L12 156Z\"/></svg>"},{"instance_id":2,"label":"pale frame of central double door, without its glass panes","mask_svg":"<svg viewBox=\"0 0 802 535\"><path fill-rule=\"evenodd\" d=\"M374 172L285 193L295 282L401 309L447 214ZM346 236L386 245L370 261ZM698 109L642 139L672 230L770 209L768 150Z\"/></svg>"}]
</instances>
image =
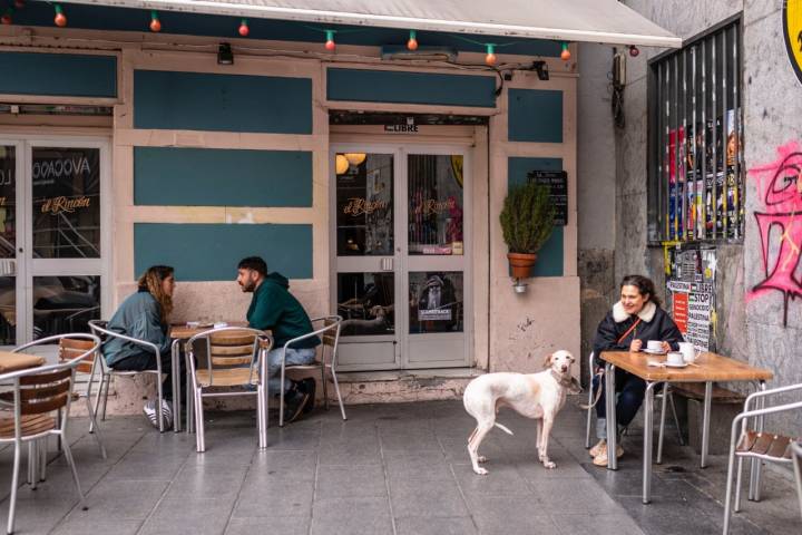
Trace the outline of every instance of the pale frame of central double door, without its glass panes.
<instances>
[{"instance_id":1,"label":"pale frame of central double door, without its glass panes","mask_svg":"<svg viewBox=\"0 0 802 535\"><path fill-rule=\"evenodd\" d=\"M389 139L387 140L389 142ZM463 311L462 311L462 324L463 331L461 333L429 333L429 334L414 334L417 340L426 341L427 339L437 338L442 340L444 337L451 337L456 340L463 339L464 343L464 359L459 364L444 364L446 367L469 367L470 354L473 343L473 283L472 283L472 143L466 142L449 143L449 144L428 144L428 143L405 143L405 144L390 144L390 143L333 143L330 146L329 160L331 162L330 173L330 195L329 195L329 207L330 207L330 273L329 280L331 281L331 307L336 310L338 300L338 263L351 264L348 257L338 260L338 236L336 236L336 172L334 169L334 158L338 153L369 153L369 154L392 154L393 155L393 232L394 232L394 251L392 255L394 278L394 290L395 290L395 303L397 310L401 303L408 301L407 295L409 293L409 270L410 266L428 271L461 271L462 272L462 292L463 292ZM449 256L449 255L431 255L431 256L410 256L409 255L409 243L408 243L408 221L409 221L409 206L407 203L407 189L408 189L408 159L407 156L411 154L430 154L430 155L452 155L460 154L463 157L463 187L462 187L462 206L464 217L462 220L462 235L463 235L463 253L461 256ZM388 256L360 256L353 259L353 271L381 271L379 265L381 259ZM364 264L375 264L375 269L363 269ZM426 268L423 268L426 265ZM454 268L458 265L458 268ZM350 270L350 269L349 269ZM348 270L343 270L348 271ZM394 339L395 347L395 361L392 366L358 366L346 367L342 366L344 371L349 370L382 370L382 369L408 369L410 368L409 362L409 346L410 346L409 333L409 307L403 307L403 312L395 314L395 332L392 337L390 335L362 335L359 337L360 341L390 341ZM355 338L355 337L354 337ZM433 366L417 366L418 368L436 368Z\"/></svg>"}]
</instances>

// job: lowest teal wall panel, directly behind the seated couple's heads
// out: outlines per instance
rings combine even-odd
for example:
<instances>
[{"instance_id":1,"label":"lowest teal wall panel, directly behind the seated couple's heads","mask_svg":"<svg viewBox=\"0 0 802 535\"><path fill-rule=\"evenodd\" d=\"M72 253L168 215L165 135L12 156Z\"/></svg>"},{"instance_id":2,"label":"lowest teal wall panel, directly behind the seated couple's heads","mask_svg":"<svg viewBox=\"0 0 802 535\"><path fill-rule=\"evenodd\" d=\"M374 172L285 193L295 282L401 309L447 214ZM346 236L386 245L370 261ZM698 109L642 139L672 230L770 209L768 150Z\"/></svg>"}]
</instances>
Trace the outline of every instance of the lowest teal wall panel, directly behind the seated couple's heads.
<instances>
[{"instance_id":1,"label":"lowest teal wall panel, directly behind the seated couple's heads","mask_svg":"<svg viewBox=\"0 0 802 535\"><path fill-rule=\"evenodd\" d=\"M253 255L288 279L312 279L312 225L134 224L137 275L166 264L179 282L234 281L237 263Z\"/></svg>"}]
</instances>

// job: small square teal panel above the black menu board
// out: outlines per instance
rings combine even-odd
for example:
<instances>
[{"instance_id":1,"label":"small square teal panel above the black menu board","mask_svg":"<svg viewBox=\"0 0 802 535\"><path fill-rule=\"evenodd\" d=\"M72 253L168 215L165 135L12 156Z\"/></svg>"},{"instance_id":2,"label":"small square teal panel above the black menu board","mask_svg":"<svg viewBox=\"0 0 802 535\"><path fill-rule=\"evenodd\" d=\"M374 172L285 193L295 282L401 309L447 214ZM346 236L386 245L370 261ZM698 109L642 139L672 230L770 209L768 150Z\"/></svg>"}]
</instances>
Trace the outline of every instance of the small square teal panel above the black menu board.
<instances>
[{"instance_id":1,"label":"small square teal panel above the black menu board","mask_svg":"<svg viewBox=\"0 0 802 535\"><path fill-rule=\"evenodd\" d=\"M510 142L563 143L563 91L510 89Z\"/></svg>"}]
</instances>

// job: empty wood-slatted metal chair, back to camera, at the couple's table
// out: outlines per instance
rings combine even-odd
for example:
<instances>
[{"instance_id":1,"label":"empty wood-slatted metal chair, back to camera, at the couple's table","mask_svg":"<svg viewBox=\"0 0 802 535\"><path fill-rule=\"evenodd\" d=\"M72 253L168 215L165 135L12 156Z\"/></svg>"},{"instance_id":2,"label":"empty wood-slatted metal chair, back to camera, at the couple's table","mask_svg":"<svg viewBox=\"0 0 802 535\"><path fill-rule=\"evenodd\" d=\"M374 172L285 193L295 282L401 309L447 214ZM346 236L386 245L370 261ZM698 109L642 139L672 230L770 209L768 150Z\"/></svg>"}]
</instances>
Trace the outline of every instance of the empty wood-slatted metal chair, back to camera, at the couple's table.
<instances>
[{"instance_id":1,"label":"empty wood-slatted metal chair, back to camera, at the couple's table","mask_svg":"<svg viewBox=\"0 0 802 535\"><path fill-rule=\"evenodd\" d=\"M195 343L202 340L206 342L205 366L198 362L195 353ZM266 369L267 351L272 344L273 339L264 331L239 327L212 329L187 341L187 374L192 379L194 397L192 406L187 403L187 410L194 410L196 449L199 454L206 451L203 398L213 397L255 395L258 447L267 447ZM244 388L232 391L232 387Z\"/></svg>"}]
</instances>

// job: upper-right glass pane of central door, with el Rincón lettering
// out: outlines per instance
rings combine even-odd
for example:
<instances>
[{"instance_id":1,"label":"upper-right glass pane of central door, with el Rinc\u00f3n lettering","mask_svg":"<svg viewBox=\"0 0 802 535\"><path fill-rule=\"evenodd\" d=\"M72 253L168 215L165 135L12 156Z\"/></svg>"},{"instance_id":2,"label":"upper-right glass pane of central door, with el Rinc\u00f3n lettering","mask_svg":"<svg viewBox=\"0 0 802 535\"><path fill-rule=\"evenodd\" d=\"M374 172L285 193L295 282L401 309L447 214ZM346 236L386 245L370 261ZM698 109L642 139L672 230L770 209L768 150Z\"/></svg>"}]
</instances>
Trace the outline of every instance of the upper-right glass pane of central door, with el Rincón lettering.
<instances>
[{"instance_id":1,"label":"upper-right glass pane of central door, with el Rinc\u00f3n lettering","mask_svg":"<svg viewBox=\"0 0 802 535\"><path fill-rule=\"evenodd\" d=\"M462 254L461 155L409 156L410 254Z\"/></svg>"}]
</instances>

